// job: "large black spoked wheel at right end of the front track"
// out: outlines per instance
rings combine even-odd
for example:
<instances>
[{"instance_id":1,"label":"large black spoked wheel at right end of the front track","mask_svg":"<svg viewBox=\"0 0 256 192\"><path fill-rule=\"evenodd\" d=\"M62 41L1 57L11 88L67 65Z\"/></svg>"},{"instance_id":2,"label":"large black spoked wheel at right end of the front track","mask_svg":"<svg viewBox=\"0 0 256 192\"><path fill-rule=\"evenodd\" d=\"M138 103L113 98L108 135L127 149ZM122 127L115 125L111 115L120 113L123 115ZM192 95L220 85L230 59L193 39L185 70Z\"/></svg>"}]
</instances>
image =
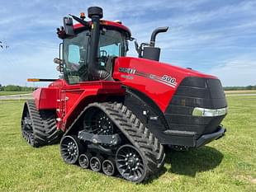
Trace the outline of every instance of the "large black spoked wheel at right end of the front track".
<instances>
[{"instance_id":1,"label":"large black spoked wheel at right end of the front track","mask_svg":"<svg viewBox=\"0 0 256 192\"><path fill-rule=\"evenodd\" d=\"M116 166L126 180L140 182L145 179L145 159L132 145L126 144L117 150Z\"/></svg>"}]
</instances>

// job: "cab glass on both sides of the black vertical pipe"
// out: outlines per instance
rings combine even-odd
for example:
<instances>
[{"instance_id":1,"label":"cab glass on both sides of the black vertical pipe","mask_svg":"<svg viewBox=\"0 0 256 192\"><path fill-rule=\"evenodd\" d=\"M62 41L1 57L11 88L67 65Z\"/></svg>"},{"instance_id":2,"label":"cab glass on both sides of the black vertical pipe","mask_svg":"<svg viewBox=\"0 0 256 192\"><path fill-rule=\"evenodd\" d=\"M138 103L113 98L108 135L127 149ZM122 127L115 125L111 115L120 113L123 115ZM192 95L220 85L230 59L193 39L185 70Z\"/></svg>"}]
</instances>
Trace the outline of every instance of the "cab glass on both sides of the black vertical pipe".
<instances>
[{"instance_id":1,"label":"cab glass on both sides of the black vertical pipe","mask_svg":"<svg viewBox=\"0 0 256 192\"><path fill-rule=\"evenodd\" d=\"M69 84L88 81L89 40L88 30L64 39L64 79ZM120 56L126 56L126 36L116 30L101 30L97 55L99 67L111 70L111 66L106 66L107 58Z\"/></svg>"}]
</instances>

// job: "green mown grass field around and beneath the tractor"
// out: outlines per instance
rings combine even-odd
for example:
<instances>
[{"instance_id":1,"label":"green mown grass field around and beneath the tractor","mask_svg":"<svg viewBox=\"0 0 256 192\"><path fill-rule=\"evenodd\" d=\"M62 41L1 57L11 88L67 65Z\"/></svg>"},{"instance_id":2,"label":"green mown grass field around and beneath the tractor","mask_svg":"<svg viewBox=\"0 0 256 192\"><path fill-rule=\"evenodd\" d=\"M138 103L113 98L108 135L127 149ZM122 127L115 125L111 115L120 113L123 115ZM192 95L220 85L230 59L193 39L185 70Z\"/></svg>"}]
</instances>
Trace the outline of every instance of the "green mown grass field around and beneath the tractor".
<instances>
[{"instance_id":1,"label":"green mown grass field around and beneath the tractor","mask_svg":"<svg viewBox=\"0 0 256 192\"><path fill-rule=\"evenodd\" d=\"M0 191L256 191L256 96L228 103L225 138L167 152L160 176L135 185L66 165L59 145L31 148L20 133L22 101L0 101Z\"/></svg>"}]
</instances>

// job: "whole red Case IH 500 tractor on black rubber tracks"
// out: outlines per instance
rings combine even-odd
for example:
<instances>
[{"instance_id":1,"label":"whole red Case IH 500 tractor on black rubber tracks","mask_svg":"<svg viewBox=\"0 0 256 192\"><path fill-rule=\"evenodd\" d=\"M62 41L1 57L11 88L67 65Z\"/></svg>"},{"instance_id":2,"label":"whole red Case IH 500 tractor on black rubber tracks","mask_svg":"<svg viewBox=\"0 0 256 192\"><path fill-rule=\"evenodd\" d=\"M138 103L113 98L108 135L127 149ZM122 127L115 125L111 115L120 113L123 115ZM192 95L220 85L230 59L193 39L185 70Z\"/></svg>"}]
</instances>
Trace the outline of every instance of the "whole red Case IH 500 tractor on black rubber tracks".
<instances>
[{"instance_id":1,"label":"whole red Case IH 500 tractor on black rubber tracks","mask_svg":"<svg viewBox=\"0 0 256 192\"><path fill-rule=\"evenodd\" d=\"M60 140L64 162L141 182L163 166L164 146L187 150L224 136L220 80L159 62L155 38L168 27L135 41L134 58L126 57L135 40L126 26L102 20L100 7L88 17L66 16L57 29L59 79L31 80L51 82L24 105L21 132L31 146Z\"/></svg>"}]
</instances>

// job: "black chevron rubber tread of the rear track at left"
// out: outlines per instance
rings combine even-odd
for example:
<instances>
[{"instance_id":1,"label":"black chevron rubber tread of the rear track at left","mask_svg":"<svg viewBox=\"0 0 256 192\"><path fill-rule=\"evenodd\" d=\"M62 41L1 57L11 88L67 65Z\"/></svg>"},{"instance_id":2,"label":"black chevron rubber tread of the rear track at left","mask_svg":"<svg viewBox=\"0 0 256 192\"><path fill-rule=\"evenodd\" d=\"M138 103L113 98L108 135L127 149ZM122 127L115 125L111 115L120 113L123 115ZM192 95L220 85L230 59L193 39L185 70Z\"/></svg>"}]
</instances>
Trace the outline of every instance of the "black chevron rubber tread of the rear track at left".
<instances>
[{"instance_id":1,"label":"black chevron rubber tread of the rear track at left","mask_svg":"<svg viewBox=\"0 0 256 192\"><path fill-rule=\"evenodd\" d=\"M26 101L33 129L32 147L39 148L59 142L55 115L51 111L38 111L34 100Z\"/></svg>"}]
</instances>

